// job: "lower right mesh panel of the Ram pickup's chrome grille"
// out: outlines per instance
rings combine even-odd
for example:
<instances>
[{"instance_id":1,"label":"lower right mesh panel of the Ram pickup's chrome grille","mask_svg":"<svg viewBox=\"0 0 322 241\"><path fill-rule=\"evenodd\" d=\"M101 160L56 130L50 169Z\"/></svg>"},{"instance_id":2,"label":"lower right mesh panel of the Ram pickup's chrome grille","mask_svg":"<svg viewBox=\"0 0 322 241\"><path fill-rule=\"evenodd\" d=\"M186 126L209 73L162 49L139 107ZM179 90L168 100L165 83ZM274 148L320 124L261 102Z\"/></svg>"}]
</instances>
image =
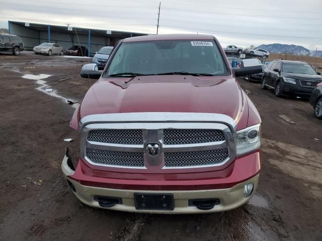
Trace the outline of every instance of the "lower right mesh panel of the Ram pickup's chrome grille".
<instances>
[{"instance_id":1,"label":"lower right mesh panel of the Ram pickup's chrome grille","mask_svg":"<svg viewBox=\"0 0 322 241\"><path fill-rule=\"evenodd\" d=\"M195 152L168 152L165 153L165 166L183 167L220 164L227 157L227 148Z\"/></svg>"}]
</instances>

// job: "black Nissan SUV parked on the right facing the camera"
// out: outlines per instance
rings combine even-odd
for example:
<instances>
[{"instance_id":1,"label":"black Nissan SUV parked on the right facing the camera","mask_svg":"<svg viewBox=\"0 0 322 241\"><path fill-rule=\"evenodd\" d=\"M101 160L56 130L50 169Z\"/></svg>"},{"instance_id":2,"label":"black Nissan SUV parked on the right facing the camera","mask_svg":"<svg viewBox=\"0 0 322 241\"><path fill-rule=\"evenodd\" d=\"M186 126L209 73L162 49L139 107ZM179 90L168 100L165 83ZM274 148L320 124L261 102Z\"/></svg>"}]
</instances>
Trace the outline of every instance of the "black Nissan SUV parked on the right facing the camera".
<instances>
[{"instance_id":1,"label":"black Nissan SUV parked on the right facing the camera","mask_svg":"<svg viewBox=\"0 0 322 241\"><path fill-rule=\"evenodd\" d=\"M275 89L276 96L290 95L309 98L322 82L320 72L302 61L274 60L264 71L262 89Z\"/></svg>"}]
</instances>

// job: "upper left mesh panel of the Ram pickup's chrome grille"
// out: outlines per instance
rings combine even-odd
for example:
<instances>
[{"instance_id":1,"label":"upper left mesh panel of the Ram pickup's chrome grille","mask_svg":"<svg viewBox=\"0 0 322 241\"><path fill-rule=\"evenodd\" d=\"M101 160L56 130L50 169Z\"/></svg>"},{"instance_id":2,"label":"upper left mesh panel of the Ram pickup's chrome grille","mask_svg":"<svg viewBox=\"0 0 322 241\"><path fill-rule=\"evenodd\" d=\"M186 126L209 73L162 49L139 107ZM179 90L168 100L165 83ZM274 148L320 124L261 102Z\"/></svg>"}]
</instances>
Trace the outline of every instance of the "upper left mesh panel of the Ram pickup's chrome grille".
<instances>
[{"instance_id":1,"label":"upper left mesh panel of the Ram pickup's chrome grille","mask_svg":"<svg viewBox=\"0 0 322 241\"><path fill-rule=\"evenodd\" d=\"M90 131L88 141L112 144L142 145L142 130L137 129L102 129Z\"/></svg>"}]
</instances>

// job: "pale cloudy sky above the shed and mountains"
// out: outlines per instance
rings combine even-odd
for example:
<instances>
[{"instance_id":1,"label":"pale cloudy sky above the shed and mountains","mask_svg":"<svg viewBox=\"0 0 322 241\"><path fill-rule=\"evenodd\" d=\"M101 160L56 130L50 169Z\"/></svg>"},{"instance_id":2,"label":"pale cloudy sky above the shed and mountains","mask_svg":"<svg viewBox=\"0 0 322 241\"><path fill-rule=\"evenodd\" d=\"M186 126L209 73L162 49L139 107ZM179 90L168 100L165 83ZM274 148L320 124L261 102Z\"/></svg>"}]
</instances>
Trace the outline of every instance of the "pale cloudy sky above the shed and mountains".
<instances>
[{"instance_id":1,"label":"pale cloudy sky above the shed and mountains","mask_svg":"<svg viewBox=\"0 0 322 241\"><path fill-rule=\"evenodd\" d=\"M8 20L156 33L159 0L0 0L0 28ZM159 34L214 35L222 46L295 44L322 50L320 0L161 1Z\"/></svg>"}]
</instances>

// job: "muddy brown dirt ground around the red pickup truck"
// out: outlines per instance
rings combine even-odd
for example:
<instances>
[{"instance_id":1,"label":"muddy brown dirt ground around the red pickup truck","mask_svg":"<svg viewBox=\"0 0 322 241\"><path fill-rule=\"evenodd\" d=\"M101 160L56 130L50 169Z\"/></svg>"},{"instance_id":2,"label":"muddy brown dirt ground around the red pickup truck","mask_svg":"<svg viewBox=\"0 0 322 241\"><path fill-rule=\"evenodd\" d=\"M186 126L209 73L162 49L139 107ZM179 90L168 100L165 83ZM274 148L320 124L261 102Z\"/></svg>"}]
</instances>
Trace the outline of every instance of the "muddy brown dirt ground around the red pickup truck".
<instances>
[{"instance_id":1,"label":"muddy brown dirt ground around the red pickup truck","mask_svg":"<svg viewBox=\"0 0 322 241\"><path fill-rule=\"evenodd\" d=\"M78 155L79 134L68 126L74 106L66 100L81 100L94 83L79 76L83 61L91 60L0 55L0 240L322 240L322 121L306 100L277 98L244 79L263 121L263 168L250 203L200 215L81 204L60 163L66 146ZM44 82L24 74L52 76Z\"/></svg>"}]
</instances>

